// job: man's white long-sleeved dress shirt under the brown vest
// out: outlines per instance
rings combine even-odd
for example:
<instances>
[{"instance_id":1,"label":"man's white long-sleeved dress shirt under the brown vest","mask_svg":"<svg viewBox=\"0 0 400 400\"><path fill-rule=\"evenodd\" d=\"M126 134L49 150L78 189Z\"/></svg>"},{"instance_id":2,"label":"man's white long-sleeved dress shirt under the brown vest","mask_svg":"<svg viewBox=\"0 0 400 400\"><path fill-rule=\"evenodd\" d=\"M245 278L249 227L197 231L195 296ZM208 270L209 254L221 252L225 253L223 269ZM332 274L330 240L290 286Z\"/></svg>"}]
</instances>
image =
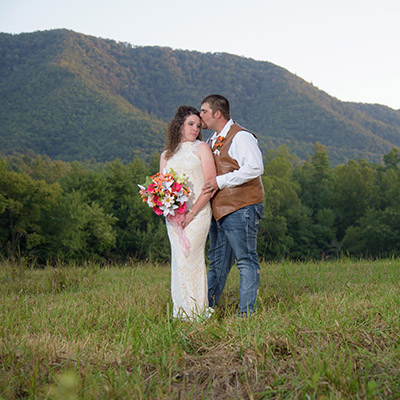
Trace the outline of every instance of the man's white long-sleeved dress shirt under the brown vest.
<instances>
[{"instance_id":1,"label":"man's white long-sleeved dress shirt under the brown vest","mask_svg":"<svg viewBox=\"0 0 400 400\"><path fill-rule=\"evenodd\" d=\"M218 136L226 136L233 124L234 122L230 119L219 135L214 132L209 140L211 147ZM228 154L237 161L239 169L217 176L217 184L220 189L242 185L264 173L258 140L250 132L239 131L232 140Z\"/></svg>"}]
</instances>

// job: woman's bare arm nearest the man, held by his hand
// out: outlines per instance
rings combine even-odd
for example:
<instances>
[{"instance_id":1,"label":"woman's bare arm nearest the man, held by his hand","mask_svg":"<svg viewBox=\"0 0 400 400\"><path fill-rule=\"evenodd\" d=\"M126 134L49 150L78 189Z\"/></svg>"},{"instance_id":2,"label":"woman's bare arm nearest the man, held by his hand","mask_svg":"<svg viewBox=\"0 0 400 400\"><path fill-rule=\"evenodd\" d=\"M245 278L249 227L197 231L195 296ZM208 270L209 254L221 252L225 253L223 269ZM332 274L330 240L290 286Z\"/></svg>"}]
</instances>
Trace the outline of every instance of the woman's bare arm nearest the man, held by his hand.
<instances>
[{"instance_id":1,"label":"woman's bare arm nearest the man, held by his hand","mask_svg":"<svg viewBox=\"0 0 400 400\"><path fill-rule=\"evenodd\" d=\"M217 172L210 147L206 143L201 143L198 145L196 150L200 157L204 182L211 178L215 178ZM200 193L192 208L185 214L185 221L183 225L184 228L186 228L186 226L192 222L193 218L202 210L202 208L210 201L210 199L211 193L204 193L204 191Z\"/></svg>"}]
</instances>

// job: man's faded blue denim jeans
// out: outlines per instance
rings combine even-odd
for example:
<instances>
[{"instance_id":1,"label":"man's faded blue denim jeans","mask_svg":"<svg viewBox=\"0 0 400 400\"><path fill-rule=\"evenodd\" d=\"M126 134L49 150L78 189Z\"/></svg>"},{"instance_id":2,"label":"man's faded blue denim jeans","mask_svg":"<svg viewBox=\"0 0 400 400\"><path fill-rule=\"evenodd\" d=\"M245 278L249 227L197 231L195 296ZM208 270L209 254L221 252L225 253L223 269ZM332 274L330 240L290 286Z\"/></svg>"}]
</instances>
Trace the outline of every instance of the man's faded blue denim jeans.
<instances>
[{"instance_id":1,"label":"man's faded blue denim jeans","mask_svg":"<svg viewBox=\"0 0 400 400\"><path fill-rule=\"evenodd\" d=\"M264 216L264 203L243 207L210 227L208 251L208 301L218 305L226 279L236 260L240 272L239 314L255 311L260 284L260 264L257 254L257 231Z\"/></svg>"}]
</instances>

